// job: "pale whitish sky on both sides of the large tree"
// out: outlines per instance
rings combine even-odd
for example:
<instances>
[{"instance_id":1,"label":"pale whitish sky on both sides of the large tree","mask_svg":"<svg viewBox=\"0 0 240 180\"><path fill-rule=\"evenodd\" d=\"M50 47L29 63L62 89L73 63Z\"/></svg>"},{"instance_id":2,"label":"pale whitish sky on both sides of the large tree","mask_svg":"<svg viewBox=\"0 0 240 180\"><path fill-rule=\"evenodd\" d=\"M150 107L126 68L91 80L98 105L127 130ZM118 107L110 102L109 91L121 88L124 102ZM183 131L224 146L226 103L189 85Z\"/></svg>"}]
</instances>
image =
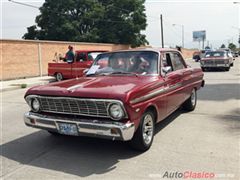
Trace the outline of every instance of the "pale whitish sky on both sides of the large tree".
<instances>
[{"instance_id":1,"label":"pale whitish sky on both sides of the large tree","mask_svg":"<svg viewBox=\"0 0 240 180\"><path fill-rule=\"evenodd\" d=\"M40 7L43 0L23 1ZM160 14L163 15L164 42L168 46L182 44L181 26L184 25L184 44L187 48L198 48L193 42L192 31L206 30L209 45L219 47L222 43L237 44L240 27L240 4L231 0L146 0L147 29L143 31L152 46L160 46ZM1 38L21 39L26 27L33 25L38 9L1 0ZM205 42L206 44L207 42Z\"/></svg>"}]
</instances>

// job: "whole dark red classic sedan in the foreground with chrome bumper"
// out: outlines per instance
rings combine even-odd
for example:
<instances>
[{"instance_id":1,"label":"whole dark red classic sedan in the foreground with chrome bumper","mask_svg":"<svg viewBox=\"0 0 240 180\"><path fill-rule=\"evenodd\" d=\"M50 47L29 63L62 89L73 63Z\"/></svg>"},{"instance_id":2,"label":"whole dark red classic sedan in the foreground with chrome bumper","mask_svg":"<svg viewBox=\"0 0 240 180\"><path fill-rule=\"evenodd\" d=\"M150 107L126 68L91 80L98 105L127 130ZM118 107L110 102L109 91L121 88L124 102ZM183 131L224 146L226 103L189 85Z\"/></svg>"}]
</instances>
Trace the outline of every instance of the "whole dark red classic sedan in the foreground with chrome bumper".
<instances>
[{"instance_id":1,"label":"whole dark red classic sedan in the foreground with chrome bumper","mask_svg":"<svg viewBox=\"0 0 240 180\"><path fill-rule=\"evenodd\" d=\"M204 85L200 68L172 49L137 49L98 55L81 78L26 92L27 126L52 134L129 141L146 151L155 124L183 106L194 110Z\"/></svg>"}]
</instances>

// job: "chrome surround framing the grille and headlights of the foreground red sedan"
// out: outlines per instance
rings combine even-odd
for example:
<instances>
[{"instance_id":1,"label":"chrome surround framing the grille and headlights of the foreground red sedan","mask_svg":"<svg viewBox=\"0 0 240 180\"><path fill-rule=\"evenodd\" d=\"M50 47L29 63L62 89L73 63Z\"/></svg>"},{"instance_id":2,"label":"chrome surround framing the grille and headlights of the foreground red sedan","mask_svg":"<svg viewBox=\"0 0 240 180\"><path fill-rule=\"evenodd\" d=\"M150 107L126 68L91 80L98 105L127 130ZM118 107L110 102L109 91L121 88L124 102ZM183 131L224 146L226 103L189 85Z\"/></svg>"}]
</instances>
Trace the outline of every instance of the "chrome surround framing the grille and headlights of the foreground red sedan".
<instances>
[{"instance_id":1,"label":"chrome surround framing the grille and headlights of the foreground red sedan","mask_svg":"<svg viewBox=\"0 0 240 180\"><path fill-rule=\"evenodd\" d=\"M106 111L107 111L107 116L102 116L102 115L91 115L91 114L81 114L81 113L67 113L67 112L57 112L57 111L43 111L43 112L50 112L50 113L57 113L57 114L72 114L72 115L81 115L81 116L89 116L89 117L103 117L103 118L111 118L113 119L110 115L109 115L109 112L108 112L108 109L109 109L109 106L113 103L118 103L120 104L120 106L122 107L123 111L124 111L124 114L125 116L123 118L128 118L128 114L127 114L127 111L123 105L123 102L120 101L120 100L115 100L115 99L86 99L86 98L73 98L73 97L50 97L50 96L39 96L39 95L28 95L25 97L25 100L26 102L29 104L30 102L30 99L31 98L39 98L41 99L41 97L43 98L49 98L49 99L70 99L70 100L82 100L82 101L92 101L93 103L95 102L109 102L107 108L106 108ZM31 105L30 105L30 108L31 108ZM113 119L115 120L115 119Z\"/></svg>"}]
</instances>

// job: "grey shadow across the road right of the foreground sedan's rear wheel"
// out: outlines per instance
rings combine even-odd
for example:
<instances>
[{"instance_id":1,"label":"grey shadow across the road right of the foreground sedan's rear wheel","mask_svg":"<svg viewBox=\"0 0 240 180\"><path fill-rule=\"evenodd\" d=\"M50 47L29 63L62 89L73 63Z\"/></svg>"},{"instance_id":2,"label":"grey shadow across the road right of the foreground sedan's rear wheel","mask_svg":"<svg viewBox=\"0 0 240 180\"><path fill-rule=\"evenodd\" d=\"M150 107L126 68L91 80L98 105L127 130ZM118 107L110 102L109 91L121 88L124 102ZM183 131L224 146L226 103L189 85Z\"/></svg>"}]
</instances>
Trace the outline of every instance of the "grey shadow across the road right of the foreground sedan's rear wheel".
<instances>
[{"instance_id":1,"label":"grey shadow across the road right of the foreground sedan's rear wheel","mask_svg":"<svg viewBox=\"0 0 240 180\"><path fill-rule=\"evenodd\" d=\"M240 99L240 84L206 84L199 91L198 99L207 101Z\"/></svg>"}]
</instances>

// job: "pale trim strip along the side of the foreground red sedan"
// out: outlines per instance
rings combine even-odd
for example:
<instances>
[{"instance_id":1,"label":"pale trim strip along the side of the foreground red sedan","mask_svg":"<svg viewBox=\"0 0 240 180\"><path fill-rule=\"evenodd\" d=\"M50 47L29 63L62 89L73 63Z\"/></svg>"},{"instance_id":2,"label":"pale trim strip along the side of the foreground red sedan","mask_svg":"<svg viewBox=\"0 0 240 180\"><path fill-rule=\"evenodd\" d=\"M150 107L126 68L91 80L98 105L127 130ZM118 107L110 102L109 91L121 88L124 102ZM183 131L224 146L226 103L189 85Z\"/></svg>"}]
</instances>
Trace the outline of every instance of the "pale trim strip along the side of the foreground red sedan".
<instances>
[{"instance_id":1,"label":"pale trim strip along the side of the foreground red sedan","mask_svg":"<svg viewBox=\"0 0 240 180\"><path fill-rule=\"evenodd\" d=\"M155 96L161 95L161 94L163 94L165 92L177 89L180 86L182 86L182 83L177 83L175 85L168 86L168 87L156 90L154 92L146 94L145 96L142 96L142 97L139 97L139 98L135 98L135 99L131 100L130 103L131 104L136 104L136 103L139 103L139 102L142 102L142 101L149 100L149 99L154 98Z\"/></svg>"}]
</instances>

